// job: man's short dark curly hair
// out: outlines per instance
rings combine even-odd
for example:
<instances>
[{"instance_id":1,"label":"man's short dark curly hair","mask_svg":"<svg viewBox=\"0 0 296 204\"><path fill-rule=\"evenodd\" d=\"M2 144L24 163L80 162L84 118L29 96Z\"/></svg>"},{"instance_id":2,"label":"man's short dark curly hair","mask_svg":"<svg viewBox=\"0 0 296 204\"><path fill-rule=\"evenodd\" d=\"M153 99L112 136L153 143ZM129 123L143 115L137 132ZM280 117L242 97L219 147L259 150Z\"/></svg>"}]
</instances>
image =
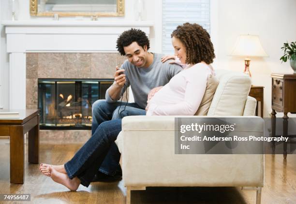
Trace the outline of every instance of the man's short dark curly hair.
<instances>
[{"instance_id":1,"label":"man's short dark curly hair","mask_svg":"<svg viewBox=\"0 0 296 204\"><path fill-rule=\"evenodd\" d=\"M124 31L117 39L116 48L120 55L125 55L123 47L129 46L133 42L144 48L147 45L147 50L150 48L150 43L146 33L140 29L130 29Z\"/></svg>"}]
</instances>

